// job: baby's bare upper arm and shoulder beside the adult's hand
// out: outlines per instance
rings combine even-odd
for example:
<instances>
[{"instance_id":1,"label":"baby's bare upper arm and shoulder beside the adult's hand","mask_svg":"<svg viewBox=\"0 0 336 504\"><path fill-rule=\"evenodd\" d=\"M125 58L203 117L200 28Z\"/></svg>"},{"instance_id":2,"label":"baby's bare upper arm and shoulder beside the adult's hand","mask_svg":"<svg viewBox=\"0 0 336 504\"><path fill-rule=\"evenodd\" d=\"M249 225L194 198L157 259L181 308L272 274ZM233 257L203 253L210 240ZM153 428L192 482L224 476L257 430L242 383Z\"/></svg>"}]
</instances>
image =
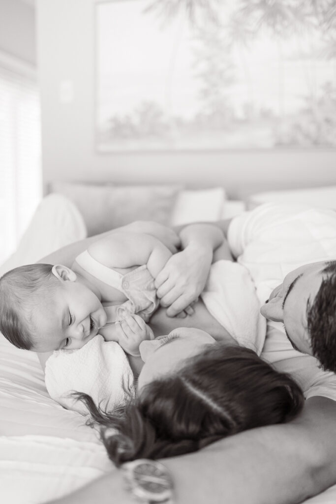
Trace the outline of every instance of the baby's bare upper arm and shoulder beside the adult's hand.
<instances>
[{"instance_id":1,"label":"baby's bare upper arm and shoulder beside the adult's hand","mask_svg":"<svg viewBox=\"0 0 336 504\"><path fill-rule=\"evenodd\" d=\"M131 268L146 264L151 275L158 273L172 256L154 236L145 233L118 232L93 243L89 254L109 268Z\"/></svg>"}]
</instances>

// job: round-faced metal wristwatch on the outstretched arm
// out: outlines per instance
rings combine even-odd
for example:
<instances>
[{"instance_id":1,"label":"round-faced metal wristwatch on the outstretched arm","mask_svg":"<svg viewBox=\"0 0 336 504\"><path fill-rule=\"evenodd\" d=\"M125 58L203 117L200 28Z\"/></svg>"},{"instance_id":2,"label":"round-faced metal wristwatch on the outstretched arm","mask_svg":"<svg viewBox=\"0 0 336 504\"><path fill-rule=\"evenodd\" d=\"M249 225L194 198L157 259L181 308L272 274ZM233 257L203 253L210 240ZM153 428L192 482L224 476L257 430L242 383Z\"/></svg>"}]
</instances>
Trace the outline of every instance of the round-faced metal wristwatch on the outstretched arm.
<instances>
[{"instance_id":1,"label":"round-faced metal wristwatch on the outstretched arm","mask_svg":"<svg viewBox=\"0 0 336 504\"><path fill-rule=\"evenodd\" d=\"M126 488L133 497L147 504L174 504L173 480L168 469L150 459L138 459L122 464Z\"/></svg>"}]
</instances>

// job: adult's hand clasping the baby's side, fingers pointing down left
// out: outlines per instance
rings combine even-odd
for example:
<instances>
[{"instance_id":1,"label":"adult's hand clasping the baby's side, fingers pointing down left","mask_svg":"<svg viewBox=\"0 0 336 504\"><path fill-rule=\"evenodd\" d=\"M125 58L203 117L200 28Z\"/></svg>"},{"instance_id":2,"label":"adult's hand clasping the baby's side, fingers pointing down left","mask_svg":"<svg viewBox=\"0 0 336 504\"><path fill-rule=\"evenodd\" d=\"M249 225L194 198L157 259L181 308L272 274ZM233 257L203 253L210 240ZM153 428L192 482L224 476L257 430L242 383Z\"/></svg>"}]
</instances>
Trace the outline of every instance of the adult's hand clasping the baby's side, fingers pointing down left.
<instances>
[{"instance_id":1,"label":"adult's hand clasping the baby's side, fingers pointing down left","mask_svg":"<svg viewBox=\"0 0 336 504\"><path fill-rule=\"evenodd\" d=\"M191 314L190 306L203 291L212 262L212 249L190 243L172 256L155 279L161 306L167 306L167 316L175 317L183 310ZM184 314L185 316L185 314Z\"/></svg>"}]
</instances>

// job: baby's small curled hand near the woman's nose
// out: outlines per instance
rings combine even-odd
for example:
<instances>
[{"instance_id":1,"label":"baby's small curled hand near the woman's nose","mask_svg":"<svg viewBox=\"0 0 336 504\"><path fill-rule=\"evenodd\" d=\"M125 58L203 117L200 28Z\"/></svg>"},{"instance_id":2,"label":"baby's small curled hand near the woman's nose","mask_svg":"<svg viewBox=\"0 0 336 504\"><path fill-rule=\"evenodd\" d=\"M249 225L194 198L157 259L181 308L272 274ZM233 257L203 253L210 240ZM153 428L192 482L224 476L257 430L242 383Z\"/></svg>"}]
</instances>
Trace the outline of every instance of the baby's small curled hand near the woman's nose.
<instances>
[{"instance_id":1,"label":"baby's small curled hand near the woman's nose","mask_svg":"<svg viewBox=\"0 0 336 504\"><path fill-rule=\"evenodd\" d=\"M142 341L153 340L154 333L139 315L127 315L115 324L118 343L130 355L139 356L139 345Z\"/></svg>"}]
</instances>

